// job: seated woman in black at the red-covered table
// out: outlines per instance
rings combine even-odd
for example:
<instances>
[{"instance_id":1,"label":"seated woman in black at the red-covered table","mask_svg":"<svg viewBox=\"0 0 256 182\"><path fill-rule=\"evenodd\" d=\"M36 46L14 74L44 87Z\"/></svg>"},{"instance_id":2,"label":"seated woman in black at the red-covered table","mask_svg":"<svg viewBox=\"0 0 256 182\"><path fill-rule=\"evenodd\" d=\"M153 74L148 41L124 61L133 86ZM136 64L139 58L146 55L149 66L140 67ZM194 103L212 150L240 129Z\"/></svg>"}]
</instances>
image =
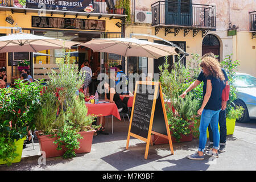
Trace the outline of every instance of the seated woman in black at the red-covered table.
<instances>
[{"instance_id":1,"label":"seated woman in black at the red-covered table","mask_svg":"<svg viewBox=\"0 0 256 182\"><path fill-rule=\"evenodd\" d=\"M123 109L123 104L122 104L122 100L119 97L119 94L117 92L115 92L115 82L112 79L106 79L105 80L105 101L108 101L110 103L114 103L115 105L117 105L117 109L119 112L122 111ZM101 134L105 134L108 135L108 133L105 133L105 117L99 117L99 123L98 125L101 125L100 129L97 130L97 132L101 133ZM94 135L97 135L97 133L95 133Z\"/></svg>"}]
</instances>

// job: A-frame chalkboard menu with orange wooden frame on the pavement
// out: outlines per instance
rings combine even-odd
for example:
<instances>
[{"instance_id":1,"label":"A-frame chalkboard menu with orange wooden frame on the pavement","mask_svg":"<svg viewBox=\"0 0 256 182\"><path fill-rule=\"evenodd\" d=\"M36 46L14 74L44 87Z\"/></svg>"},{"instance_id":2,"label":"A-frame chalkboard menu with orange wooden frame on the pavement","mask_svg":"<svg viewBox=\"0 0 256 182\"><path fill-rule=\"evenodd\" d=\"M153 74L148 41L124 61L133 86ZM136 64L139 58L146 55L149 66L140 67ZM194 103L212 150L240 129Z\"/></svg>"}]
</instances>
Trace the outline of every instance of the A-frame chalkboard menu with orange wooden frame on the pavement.
<instances>
[{"instance_id":1,"label":"A-frame chalkboard menu with orange wooden frame on the pavement","mask_svg":"<svg viewBox=\"0 0 256 182\"><path fill-rule=\"evenodd\" d=\"M137 93L138 90L140 91L138 86L142 87L142 85L154 86L153 100L150 101L147 99L149 96L148 92L143 94ZM155 108L157 108L157 111L155 111ZM140 113L140 111L142 112ZM145 133L144 130L146 130L147 133ZM171 154L174 154L174 148L172 147L171 134L160 82L137 81L133 99L133 109L131 110L126 150L129 148L130 137L141 139L142 141L147 142L144 155L144 159L147 159L149 144L151 143L152 145L151 134L155 134L168 139Z\"/></svg>"}]
</instances>

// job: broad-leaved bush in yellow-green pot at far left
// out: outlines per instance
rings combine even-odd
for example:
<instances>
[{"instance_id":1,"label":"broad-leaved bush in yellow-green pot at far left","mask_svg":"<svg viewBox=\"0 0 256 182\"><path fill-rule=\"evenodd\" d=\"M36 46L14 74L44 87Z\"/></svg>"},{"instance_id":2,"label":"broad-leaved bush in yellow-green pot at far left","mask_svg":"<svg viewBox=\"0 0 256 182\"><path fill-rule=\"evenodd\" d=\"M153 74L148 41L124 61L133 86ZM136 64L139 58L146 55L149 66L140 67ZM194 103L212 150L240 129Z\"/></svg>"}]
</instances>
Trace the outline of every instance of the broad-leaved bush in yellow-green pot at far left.
<instances>
[{"instance_id":1,"label":"broad-leaved bush in yellow-green pot at far left","mask_svg":"<svg viewBox=\"0 0 256 182\"><path fill-rule=\"evenodd\" d=\"M0 164L20 162L27 132L35 129L41 89L40 82L27 85L22 80L15 89L0 89Z\"/></svg>"}]
</instances>

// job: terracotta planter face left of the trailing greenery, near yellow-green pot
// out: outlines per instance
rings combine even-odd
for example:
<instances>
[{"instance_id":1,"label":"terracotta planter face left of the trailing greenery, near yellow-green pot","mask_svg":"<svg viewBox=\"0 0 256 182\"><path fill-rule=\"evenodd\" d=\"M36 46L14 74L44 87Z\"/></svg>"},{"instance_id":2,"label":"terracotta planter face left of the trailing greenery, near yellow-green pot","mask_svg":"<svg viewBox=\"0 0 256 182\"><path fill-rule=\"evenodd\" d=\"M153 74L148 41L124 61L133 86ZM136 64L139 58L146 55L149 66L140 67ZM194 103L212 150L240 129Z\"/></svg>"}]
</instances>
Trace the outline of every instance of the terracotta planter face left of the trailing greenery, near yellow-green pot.
<instances>
[{"instance_id":1,"label":"terracotta planter face left of the trailing greenery, near yellow-green pot","mask_svg":"<svg viewBox=\"0 0 256 182\"><path fill-rule=\"evenodd\" d=\"M53 142L57 137L52 137L52 135L40 135L40 131L36 131L36 137L39 140L40 151L46 152L46 158L53 158L57 156L63 156L64 150L57 150L57 144Z\"/></svg>"}]
</instances>

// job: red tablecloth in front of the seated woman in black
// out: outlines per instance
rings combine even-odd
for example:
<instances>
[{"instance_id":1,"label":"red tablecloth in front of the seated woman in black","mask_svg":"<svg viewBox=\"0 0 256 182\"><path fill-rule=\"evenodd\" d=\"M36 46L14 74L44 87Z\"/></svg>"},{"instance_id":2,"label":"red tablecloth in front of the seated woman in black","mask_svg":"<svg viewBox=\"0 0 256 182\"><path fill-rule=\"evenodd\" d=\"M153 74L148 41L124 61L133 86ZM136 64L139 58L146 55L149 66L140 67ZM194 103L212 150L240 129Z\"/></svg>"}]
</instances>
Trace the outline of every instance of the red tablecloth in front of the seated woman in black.
<instances>
[{"instance_id":1,"label":"red tablecloth in front of the seated woman in black","mask_svg":"<svg viewBox=\"0 0 256 182\"><path fill-rule=\"evenodd\" d=\"M114 117L121 120L117 105L114 103L85 104L85 106L88 108L88 114L99 115L99 117L114 115Z\"/></svg>"}]
</instances>

